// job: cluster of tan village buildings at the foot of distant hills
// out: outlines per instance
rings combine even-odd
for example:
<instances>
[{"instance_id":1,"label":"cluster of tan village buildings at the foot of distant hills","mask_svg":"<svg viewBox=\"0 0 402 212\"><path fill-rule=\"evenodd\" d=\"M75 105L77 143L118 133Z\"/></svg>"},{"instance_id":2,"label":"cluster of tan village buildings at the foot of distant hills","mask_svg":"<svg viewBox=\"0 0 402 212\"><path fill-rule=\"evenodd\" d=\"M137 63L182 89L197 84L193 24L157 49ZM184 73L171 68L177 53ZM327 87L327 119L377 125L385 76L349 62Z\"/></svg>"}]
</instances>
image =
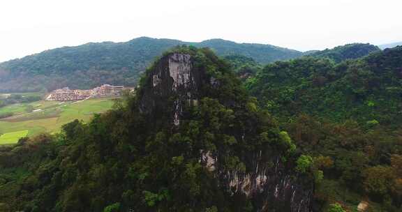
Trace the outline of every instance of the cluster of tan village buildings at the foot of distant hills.
<instances>
[{"instance_id":1,"label":"cluster of tan village buildings at the foot of distant hills","mask_svg":"<svg viewBox=\"0 0 402 212\"><path fill-rule=\"evenodd\" d=\"M52 91L52 93L47 96L46 100L76 101L92 97L112 97L119 96L123 90L124 86L113 86L110 84L103 84L90 90L71 90L66 87Z\"/></svg>"}]
</instances>

